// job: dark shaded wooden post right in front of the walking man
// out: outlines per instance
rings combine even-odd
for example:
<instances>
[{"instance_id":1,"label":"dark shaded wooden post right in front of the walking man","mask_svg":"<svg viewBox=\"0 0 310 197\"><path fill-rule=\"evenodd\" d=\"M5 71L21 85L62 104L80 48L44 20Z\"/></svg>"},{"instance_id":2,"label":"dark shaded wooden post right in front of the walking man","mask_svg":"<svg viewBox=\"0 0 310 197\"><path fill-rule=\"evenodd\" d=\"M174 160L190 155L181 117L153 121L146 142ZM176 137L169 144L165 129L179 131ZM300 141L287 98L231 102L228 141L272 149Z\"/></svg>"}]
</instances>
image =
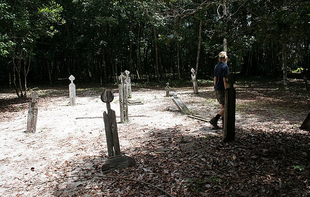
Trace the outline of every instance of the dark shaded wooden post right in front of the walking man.
<instances>
[{"instance_id":1,"label":"dark shaded wooden post right in front of the walking man","mask_svg":"<svg viewBox=\"0 0 310 197\"><path fill-rule=\"evenodd\" d=\"M233 88L233 74L229 74L225 80L228 87L225 90L224 142L231 142L235 137L236 119L236 90Z\"/></svg>"}]
</instances>

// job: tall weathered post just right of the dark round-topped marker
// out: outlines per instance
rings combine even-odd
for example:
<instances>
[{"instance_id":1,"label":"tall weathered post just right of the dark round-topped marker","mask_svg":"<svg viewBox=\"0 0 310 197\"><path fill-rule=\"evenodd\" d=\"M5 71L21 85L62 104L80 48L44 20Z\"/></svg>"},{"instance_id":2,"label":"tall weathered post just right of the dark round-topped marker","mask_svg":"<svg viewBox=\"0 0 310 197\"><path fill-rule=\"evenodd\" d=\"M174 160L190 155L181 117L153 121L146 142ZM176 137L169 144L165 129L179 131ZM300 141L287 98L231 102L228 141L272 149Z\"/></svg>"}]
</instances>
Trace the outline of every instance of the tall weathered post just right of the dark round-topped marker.
<instances>
[{"instance_id":1,"label":"tall weathered post just right of the dark round-topped marker","mask_svg":"<svg viewBox=\"0 0 310 197\"><path fill-rule=\"evenodd\" d=\"M121 123L127 122L128 119L128 91L127 91L127 83L125 83L126 77L121 74L119 76L120 84L119 87L119 94L120 94L120 116L121 116Z\"/></svg>"}]
</instances>

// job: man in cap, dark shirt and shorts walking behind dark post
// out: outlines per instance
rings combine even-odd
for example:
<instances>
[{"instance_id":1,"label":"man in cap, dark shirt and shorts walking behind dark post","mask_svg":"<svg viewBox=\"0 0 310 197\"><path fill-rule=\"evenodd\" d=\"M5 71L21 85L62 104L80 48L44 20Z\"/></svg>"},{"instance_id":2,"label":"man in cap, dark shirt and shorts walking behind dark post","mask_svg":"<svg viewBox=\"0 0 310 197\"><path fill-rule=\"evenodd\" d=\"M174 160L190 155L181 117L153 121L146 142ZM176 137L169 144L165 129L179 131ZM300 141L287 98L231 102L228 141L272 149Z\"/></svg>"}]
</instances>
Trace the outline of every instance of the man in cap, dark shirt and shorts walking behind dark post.
<instances>
[{"instance_id":1,"label":"man in cap, dark shirt and shorts walking behind dark post","mask_svg":"<svg viewBox=\"0 0 310 197\"><path fill-rule=\"evenodd\" d=\"M218 54L218 64L214 68L214 90L217 95L217 101L221 106L221 109L217 115L212 118L209 123L213 125L215 129L219 129L217 126L217 121L222 117L224 122L224 112L225 112L225 89L227 88L227 83L225 82L225 77L229 73L227 66L228 56L226 52L222 51Z\"/></svg>"}]
</instances>

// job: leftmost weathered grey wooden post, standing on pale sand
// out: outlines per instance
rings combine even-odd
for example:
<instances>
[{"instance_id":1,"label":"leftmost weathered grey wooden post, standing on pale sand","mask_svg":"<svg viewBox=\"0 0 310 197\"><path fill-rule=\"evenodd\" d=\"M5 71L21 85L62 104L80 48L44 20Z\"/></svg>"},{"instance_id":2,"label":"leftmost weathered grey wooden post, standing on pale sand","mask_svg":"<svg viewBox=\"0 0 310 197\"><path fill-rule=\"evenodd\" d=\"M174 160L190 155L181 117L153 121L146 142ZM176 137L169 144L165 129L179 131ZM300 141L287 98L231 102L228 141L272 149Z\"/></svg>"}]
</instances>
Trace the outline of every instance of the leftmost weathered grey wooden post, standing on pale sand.
<instances>
[{"instance_id":1,"label":"leftmost weathered grey wooden post, standing on pale sand","mask_svg":"<svg viewBox=\"0 0 310 197\"><path fill-rule=\"evenodd\" d=\"M27 130L26 132L35 133L37 127L38 101L39 94L34 91L31 93L31 102L28 108Z\"/></svg>"}]
</instances>

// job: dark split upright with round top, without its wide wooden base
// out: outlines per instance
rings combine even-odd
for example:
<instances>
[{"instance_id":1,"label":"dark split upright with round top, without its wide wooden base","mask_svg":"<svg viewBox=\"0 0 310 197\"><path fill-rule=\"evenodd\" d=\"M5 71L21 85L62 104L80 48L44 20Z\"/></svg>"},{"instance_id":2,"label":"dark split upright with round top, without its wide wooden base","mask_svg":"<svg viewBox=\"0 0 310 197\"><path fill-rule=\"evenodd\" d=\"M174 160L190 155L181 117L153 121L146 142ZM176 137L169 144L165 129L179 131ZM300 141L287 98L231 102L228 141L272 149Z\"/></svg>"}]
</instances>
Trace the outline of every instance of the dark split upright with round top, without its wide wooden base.
<instances>
[{"instance_id":1,"label":"dark split upright with round top, without its wide wooden base","mask_svg":"<svg viewBox=\"0 0 310 197\"><path fill-rule=\"evenodd\" d=\"M107 111L103 113L105 122L105 131L108 145L109 157L121 155L120 142L118 140L117 123L115 111L111 110L110 102L114 99L114 94L111 91L103 91L101 93L101 100L107 104Z\"/></svg>"}]
</instances>

